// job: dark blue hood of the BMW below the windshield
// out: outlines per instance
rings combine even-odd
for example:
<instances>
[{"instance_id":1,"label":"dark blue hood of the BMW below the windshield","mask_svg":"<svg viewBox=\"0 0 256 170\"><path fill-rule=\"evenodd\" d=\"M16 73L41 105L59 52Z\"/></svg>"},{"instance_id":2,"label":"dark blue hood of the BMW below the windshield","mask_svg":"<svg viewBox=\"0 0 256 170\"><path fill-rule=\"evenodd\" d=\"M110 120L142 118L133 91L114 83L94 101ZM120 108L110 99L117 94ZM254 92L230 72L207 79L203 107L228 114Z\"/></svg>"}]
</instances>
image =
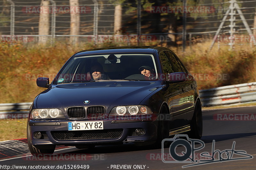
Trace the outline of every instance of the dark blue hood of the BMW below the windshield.
<instances>
[{"instance_id":1,"label":"dark blue hood of the BMW below the windshield","mask_svg":"<svg viewBox=\"0 0 256 170\"><path fill-rule=\"evenodd\" d=\"M139 105L150 93L161 87L160 81L104 81L52 85L36 101L37 108L71 106ZM90 103L84 104L84 100Z\"/></svg>"}]
</instances>

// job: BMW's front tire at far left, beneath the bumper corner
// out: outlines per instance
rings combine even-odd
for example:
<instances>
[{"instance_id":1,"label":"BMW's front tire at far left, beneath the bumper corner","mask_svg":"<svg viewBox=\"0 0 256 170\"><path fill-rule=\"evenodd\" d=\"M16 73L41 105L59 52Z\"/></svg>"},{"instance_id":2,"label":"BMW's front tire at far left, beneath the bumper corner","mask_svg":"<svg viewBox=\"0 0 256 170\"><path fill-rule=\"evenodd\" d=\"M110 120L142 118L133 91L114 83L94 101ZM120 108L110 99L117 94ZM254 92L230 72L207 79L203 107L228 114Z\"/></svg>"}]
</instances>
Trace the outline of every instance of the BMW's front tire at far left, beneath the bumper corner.
<instances>
[{"instance_id":1,"label":"BMW's front tire at far left, beneath the bumper corner","mask_svg":"<svg viewBox=\"0 0 256 170\"><path fill-rule=\"evenodd\" d=\"M34 146L31 144L31 133L30 133L30 129L29 129L29 125L27 123L27 138L28 138L28 148L30 153L33 156L44 156L44 154L46 155L52 155L52 153L55 150L56 145L38 145L38 146Z\"/></svg>"}]
</instances>

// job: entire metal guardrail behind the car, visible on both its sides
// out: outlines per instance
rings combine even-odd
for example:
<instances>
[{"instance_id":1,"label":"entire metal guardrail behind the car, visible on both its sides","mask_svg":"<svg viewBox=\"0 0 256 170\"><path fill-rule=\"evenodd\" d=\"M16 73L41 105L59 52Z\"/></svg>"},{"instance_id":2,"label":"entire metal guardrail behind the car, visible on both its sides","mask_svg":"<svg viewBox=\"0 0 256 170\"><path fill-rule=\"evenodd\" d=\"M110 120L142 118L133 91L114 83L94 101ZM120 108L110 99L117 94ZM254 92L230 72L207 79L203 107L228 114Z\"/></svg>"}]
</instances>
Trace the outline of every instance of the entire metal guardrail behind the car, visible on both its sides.
<instances>
[{"instance_id":1,"label":"entire metal guardrail behind the car, visible on both its sides","mask_svg":"<svg viewBox=\"0 0 256 170\"><path fill-rule=\"evenodd\" d=\"M256 82L200 90L202 106L256 102ZM32 102L0 104L0 119L27 118Z\"/></svg>"}]
</instances>

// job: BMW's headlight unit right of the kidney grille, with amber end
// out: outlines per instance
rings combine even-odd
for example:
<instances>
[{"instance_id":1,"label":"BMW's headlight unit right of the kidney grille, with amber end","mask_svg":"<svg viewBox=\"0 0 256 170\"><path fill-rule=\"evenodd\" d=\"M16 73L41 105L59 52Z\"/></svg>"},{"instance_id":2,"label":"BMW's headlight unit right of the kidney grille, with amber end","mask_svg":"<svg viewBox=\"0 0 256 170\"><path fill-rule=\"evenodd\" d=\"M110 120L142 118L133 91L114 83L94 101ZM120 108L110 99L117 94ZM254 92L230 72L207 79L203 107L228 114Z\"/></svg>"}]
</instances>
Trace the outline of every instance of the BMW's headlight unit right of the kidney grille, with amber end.
<instances>
[{"instance_id":1,"label":"BMW's headlight unit right of the kidney grille, with amber end","mask_svg":"<svg viewBox=\"0 0 256 170\"><path fill-rule=\"evenodd\" d=\"M129 116L129 115L148 115L152 114L152 111L148 106L116 106L112 108L109 116Z\"/></svg>"}]
</instances>

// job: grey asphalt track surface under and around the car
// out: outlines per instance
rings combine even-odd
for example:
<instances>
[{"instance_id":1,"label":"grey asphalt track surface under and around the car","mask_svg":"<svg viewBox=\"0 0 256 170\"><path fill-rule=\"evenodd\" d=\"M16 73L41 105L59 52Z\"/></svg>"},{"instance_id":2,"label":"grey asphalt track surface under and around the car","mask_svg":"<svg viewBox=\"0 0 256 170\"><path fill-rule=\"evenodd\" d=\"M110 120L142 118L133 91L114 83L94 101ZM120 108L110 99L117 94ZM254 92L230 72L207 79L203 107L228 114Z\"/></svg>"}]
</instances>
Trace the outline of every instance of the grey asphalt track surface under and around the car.
<instances>
[{"instance_id":1,"label":"grey asphalt track surface under and around the car","mask_svg":"<svg viewBox=\"0 0 256 170\"><path fill-rule=\"evenodd\" d=\"M58 149L54 154L59 155L58 160L49 160L52 157L42 159L31 159L30 155L19 156L18 158L5 159L0 161L0 166L4 169L4 165L15 165L15 166L46 166L51 165L56 167L66 165L66 169L71 168L71 165L89 165L89 169L97 170L112 170L112 169L146 169L146 170L158 170L158 169L256 169L256 129L255 120L250 118L249 120L234 120L235 118L229 118L230 120L216 120L216 114L254 114L256 107L239 107L239 108L229 108L221 110L210 110L203 111L204 129L202 141L205 143L205 147L200 151L196 151L197 159L201 159L198 153L202 152L212 152L212 141L215 140L215 150L225 151L231 150L233 141L236 142L234 150L243 150L247 154L252 155L252 159L241 159L241 160L231 160L222 161L211 164L203 164L199 166L191 166L182 168L182 166L191 165L191 163L164 163L161 160L161 149L150 149L149 147L139 147L133 144L124 145L112 145L112 146L97 146L93 149L76 149L75 147ZM215 119L214 119L215 116ZM222 117L224 118L224 117ZM227 117L226 117L227 118ZM238 118L238 117L236 117ZM255 115L254 115L255 118ZM239 118L238 118L239 119ZM199 147L200 144L196 144ZM177 153L185 152L185 148L178 146L176 148ZM164 153L168 153L169 148L164 148ZM229 152L230 153L230 152ZM78 155L76 160L69 160L67 155ZM230 155L229 155L230 156ZM82 159L82 158L84 159ZM223 159L226 159L225 154L223 154ZM231 157L231 156L230 156ZM245 157L241 155L233 155L233 158ZM71 157L70 157L71 158ZM81 160L82 159L82 160ZM85 160L86 159L86 160ZM171 158L165 157L167 160L173 160ZM202 158L203 159L203 158ZM219 160L216 156L215 160ZM68 165L70 165L68 168ZM120 166L117 166L120 165ZM124 165L131 165L131 168L121 167ZM140 166L137 166L140 165ZM114 168L114 166L116 168ZM135 167L136 166L136 167ZM145 167L144 167L145 166ZM17 170L22 168L16 168ZM24 169L24 168L23 168ZM38 168L40 169L40 168ZM47 168L46 168L47 169ZM61 169L61 168L58 168ZM63 168L65 169L65 167Z\"/></svg>"}]
</instances>

